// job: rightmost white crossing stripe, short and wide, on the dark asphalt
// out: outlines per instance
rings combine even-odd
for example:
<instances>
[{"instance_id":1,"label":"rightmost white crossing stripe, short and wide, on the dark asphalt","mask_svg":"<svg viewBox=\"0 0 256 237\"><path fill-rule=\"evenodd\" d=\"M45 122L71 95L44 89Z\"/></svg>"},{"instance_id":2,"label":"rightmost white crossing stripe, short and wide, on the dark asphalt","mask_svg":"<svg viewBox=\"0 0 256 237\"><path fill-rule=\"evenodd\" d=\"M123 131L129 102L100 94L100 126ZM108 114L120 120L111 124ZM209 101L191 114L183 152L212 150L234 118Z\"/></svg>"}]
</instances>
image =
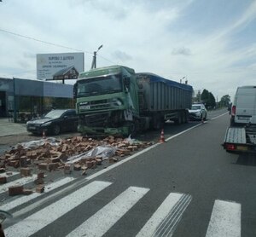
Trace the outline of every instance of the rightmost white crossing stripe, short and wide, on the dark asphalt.
<instances>
[{"instance_id":1,"label":"rightmost white crossing stripe, short and wide, on the dark asphalt","mask_svg":"<svg viewBox=\"0 0 256 237\"><path fill-rule=\"evenodd\" d=\"M215 200L206 237L241 237L241 204Z\"/></svg>"}]
</instances>

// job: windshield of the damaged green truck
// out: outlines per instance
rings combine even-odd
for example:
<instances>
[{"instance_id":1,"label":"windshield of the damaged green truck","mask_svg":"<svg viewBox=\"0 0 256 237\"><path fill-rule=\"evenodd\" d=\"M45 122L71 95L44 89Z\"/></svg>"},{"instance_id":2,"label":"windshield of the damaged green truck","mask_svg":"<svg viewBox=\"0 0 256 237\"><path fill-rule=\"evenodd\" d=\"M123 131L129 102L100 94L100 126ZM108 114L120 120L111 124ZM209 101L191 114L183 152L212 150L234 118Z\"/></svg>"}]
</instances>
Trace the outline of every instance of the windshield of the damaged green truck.
<instances>
[{"instance_id":1,"label":"windshield of the damaged green truck","mask_svg":"<svg viewBox=\"0 0 256 237\"><path fill-rule=\"evenodd\" d=\"M78 82L78 97L90 95L111 94L122 91L122 82L119 75L90 78Z\"/></svg>"}]
</instances>

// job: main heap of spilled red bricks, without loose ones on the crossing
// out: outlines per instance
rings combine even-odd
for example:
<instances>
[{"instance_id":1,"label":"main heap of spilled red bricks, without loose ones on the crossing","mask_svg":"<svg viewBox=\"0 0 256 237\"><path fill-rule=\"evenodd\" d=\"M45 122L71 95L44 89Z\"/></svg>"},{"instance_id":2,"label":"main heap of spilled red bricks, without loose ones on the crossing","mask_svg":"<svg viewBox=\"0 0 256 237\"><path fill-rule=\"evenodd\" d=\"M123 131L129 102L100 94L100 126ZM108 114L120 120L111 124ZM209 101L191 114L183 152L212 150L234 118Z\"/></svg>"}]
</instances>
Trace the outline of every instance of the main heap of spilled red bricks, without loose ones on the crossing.
<instances>
[{"instance_id":1,"label":"main heap of spilled red bricks, without loose ones on the crossing","mask_svg":"<svg viewBox=\"0 0 256 237\"><path fill-rule=\"evenodd\" d=\"M82 158L73 165L66 164L67 158L85 153L92 148L102 145L110 145L117 148L113 157L108 158L109 162L112 163L116 162L119 157L130 155L133 151L148 147L151 143L137 142L136 145L131 145L129 141L122 138L114 138L113 136L108 136L103 140L74 136L73 138L62 140L57 146L50 145L45 140L44 145L34 149L18 145L9 152L4 153L0 157L0 170L4 170L6 166L23 168L37 165L40 171L63 169L64 173L70 173L71 169L73 169L73 171L82 170L85 173L87 169L95 168L96 165L102 164L101 155Z\"/></svg>"}]
</instances>

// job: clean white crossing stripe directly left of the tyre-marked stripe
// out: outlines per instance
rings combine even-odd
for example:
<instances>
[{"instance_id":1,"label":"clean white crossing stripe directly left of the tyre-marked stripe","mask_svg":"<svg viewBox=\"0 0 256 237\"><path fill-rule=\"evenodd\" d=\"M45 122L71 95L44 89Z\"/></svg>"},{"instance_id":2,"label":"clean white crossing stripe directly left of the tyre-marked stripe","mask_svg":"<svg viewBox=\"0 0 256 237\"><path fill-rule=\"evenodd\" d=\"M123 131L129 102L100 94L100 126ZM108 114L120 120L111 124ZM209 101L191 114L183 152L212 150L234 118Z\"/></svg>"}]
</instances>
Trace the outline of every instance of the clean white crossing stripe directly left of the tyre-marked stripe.
<instances>
[{"instance_id":1,"label":"clean white crossing stripe directly left of the tyre-marked stripe","mask_svg":"<svg viewBox=\"0 0 256 237\"><path fill-rule=\"evenodd\" d=\"M130 187L105 205L100 211L82 223L67 236L102 236L123 217L137 201L149 191L148 188Z\"/></svg>"}]
</instances>

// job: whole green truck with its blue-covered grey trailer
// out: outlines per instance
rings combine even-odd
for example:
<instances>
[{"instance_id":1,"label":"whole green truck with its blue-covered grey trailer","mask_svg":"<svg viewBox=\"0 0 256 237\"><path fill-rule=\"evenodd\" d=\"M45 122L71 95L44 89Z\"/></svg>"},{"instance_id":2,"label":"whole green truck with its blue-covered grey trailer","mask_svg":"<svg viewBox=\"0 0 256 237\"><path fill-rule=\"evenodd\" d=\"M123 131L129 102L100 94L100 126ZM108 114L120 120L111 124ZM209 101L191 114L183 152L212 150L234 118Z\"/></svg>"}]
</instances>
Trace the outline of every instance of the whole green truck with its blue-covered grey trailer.
<instances>
[{"instance_id":1,"label":"whole green truck with its blue-covered grey trailer","mask_svg":"<svg viewBox=\"0 0 256 237\"><path fill-rule=\"evenodd\" d=\"M127 66L80 72L74 85L79 132L128 136L160 129L166 120L186 123L192 86Z\"/></svg>"}]
</instances>

